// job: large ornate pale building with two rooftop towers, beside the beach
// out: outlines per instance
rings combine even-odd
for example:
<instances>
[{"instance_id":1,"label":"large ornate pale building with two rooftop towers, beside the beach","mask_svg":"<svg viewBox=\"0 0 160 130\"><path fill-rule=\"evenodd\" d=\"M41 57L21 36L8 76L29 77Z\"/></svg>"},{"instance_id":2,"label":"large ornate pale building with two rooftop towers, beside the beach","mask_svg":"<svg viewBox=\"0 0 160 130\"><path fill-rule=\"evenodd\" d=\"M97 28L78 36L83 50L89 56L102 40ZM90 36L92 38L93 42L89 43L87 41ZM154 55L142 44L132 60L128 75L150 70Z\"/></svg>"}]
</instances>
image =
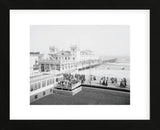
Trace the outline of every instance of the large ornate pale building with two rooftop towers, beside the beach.
<instances>
[{"instance_id":1,"label":"large ornate pale building with two rooftop towers, beside the beach","mask_svg":"<svg viewBox=\"0 0 160 130\"><path fill-rule=\"evenodd\" d=\"M59 73L71 73L83 67L99 63L99 58L92 51L80 51L75 45L71 46L69 51L59 51L54 46L49 49L49 58L43 58L39 61L41 72L57 70Z\"/></svg>"}]
</instances>

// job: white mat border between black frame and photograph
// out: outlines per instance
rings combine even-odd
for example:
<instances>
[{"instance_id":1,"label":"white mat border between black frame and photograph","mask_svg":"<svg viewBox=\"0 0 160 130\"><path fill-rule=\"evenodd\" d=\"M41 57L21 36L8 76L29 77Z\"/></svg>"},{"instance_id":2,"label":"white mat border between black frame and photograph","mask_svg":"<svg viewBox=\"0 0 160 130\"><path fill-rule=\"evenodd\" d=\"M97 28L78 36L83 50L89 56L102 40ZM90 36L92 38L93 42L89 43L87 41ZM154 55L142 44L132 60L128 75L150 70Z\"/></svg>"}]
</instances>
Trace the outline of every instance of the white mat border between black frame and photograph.
<instances>
[{"instance_id":1,"label":"white mat border between black frame and photograph","mask_svg":"<svg viewBox=\"0 0 160 130\"><path fill-rule=\"evenodd\" d=\"M137 22L135 19L140 21ZM29 68L28 52L30 51L28 43L30 41L29 27L33 24L129 25L131 29L131 105L64 105L63 107L61 105L44 105L43 107L28 105L29 70L27 68ZM137 32L137 30L139 31ZM145 82L145 80L148 80L148 71L146 71L148 70L147 57L149 53L148 36L148 10L10 10L10 69L12 70L10 75L10 119L149 119L149 84ZM21 49L17 51L15 45ZM137 53L134 53L135 50ZM23 62L23 66L19 66L19 59ZM23 68L26 69L23 70ZM141 73L137 75L137 71ZM139 84L136 82L139 82ZM17 91L20 91L20 93L17 94ZM19 102L21 102L21 105ZM46 112L41 113L44 109ZM74 109L76 111L73 111ZM99 112L96 112L97 109ZM52 110L54 111L52 112Z\"/></svg>"}]
</instances>

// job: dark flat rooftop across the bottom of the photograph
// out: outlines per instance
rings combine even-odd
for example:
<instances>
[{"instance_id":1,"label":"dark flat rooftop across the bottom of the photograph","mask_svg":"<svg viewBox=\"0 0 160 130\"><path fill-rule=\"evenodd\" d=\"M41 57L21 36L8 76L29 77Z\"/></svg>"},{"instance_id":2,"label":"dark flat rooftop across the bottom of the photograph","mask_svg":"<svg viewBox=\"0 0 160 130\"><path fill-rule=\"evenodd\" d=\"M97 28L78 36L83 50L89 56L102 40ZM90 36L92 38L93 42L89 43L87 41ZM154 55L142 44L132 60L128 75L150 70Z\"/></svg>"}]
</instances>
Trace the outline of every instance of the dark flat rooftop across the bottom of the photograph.
<instances>
[{"instance_id":1,"label":"dark flat rooftop across the bottom of the photograph","mask_svg":"<svg viewBox=\"0 0 160 130\"><path fill-rule=\"evenodd\" d=\"M130 93L108 89L83 87L74 96L53 93L31 105L129 105Z\"/></svg>"}]
</instances>

